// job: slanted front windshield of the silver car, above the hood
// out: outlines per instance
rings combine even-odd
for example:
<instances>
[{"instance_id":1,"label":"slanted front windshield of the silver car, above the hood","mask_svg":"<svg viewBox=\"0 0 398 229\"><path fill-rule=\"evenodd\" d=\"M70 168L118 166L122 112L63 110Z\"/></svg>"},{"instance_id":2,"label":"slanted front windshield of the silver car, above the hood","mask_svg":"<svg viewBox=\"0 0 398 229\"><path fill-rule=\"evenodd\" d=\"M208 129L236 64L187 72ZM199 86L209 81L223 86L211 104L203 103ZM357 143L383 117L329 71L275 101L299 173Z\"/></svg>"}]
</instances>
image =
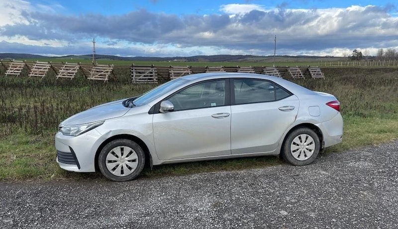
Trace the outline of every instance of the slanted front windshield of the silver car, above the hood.
<instances>
[{"instance_id":1,"label":"slanted front windshield of the silver car, above the hood","mask_svg":"<svg viewBox=\"0 0 398 229\"><path fill-rule=\"evenodd\" d=\"M173 91L174 89L180 87L181 85L187 83L187 80L184 79L175 79L171 80L167 83L164 83L148 92L143 94L142 96L138 97L134 100L134 106L142 106L148 104L149 102L162 97L166 93Z\"/></svg>"}]
</instances>

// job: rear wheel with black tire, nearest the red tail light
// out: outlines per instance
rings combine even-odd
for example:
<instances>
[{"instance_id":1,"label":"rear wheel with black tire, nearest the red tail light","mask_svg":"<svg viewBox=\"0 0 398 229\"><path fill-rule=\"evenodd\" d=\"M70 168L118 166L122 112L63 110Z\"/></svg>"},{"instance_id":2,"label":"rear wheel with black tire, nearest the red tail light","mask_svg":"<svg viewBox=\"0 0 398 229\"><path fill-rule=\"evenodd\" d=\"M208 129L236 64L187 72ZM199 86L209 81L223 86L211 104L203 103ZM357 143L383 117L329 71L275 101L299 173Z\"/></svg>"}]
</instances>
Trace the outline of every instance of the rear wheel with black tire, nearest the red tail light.
<instances>
[{"instance_id":1,"label":"rear wheel with black tire, nearest the red tail light","mask_svg":"<svg viewBox=\"0 0 398 229\"><path fill-rule=\"evenodd\" d=\"M320 141L312 129L301 127L285 138L281 149L282 158L293 165L308 165L319 153Z\"/></svg>"}]
</instances>

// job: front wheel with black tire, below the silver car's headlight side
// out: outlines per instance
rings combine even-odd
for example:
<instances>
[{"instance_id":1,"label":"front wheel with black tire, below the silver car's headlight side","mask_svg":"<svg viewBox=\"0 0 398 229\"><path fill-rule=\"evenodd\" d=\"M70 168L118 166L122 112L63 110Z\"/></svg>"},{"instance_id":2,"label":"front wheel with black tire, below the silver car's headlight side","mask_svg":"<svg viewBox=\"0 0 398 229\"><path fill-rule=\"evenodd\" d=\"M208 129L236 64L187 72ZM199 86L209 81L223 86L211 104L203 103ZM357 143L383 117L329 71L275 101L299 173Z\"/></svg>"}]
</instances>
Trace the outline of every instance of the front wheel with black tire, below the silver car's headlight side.
<instances>
[{"instance_id":1,"label":"front wheel with black tire, below the silver car's headlight side","mask_svg":"<svg viewBox=\"0 0 398 229\"><path fill-rule=\"evenodd\" d=\"M98 165L102 175L109 180L130 181L144 168L145 153L134 141L116 139L102 148Z\"/></svg>"}]
</instances>

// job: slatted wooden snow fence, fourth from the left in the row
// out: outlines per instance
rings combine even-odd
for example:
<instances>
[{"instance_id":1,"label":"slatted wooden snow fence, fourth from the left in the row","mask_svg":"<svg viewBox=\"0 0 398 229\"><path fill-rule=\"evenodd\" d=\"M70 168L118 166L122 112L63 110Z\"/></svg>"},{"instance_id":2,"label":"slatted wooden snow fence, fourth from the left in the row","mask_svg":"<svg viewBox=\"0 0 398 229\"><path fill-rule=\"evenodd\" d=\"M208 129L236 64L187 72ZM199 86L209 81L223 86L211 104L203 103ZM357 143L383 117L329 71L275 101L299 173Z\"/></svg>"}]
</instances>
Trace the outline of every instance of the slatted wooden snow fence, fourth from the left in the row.
<instances>
[{"instance_id":1,"label":"slatted wooden snow fence, fourth from the left in the row","mask_svg":"<svg viewBox=\"0 0 398 229\"><path fill-rule=\"evenodd\" d=\"M88 80L103 80L103 82L107 82L108 80L116 79L113 72L113 64L93 64L91 66L83 66L81 64L80 66Z\"/></svg>"}]
</instances>

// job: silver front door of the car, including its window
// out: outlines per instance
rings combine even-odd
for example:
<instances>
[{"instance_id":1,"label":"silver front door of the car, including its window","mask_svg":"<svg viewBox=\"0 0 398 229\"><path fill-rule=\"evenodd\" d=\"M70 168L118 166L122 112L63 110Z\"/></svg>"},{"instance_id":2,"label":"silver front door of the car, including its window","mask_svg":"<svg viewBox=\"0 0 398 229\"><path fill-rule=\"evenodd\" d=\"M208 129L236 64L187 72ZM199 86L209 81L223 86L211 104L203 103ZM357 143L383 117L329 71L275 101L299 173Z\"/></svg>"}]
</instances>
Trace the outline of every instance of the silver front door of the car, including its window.
<instances>
[{"instance_id":1,"label":"silver front door of the car, including its window","mask_svg":"<svg viewBox=\"0 0 398 229\"><path fill-rule=\"evenodd\" d=\"M167 98L174 111L153 115L160 160L231 154L231 108L225 88L225 80L207 81Z\"/></svg>"}]
</instances>

